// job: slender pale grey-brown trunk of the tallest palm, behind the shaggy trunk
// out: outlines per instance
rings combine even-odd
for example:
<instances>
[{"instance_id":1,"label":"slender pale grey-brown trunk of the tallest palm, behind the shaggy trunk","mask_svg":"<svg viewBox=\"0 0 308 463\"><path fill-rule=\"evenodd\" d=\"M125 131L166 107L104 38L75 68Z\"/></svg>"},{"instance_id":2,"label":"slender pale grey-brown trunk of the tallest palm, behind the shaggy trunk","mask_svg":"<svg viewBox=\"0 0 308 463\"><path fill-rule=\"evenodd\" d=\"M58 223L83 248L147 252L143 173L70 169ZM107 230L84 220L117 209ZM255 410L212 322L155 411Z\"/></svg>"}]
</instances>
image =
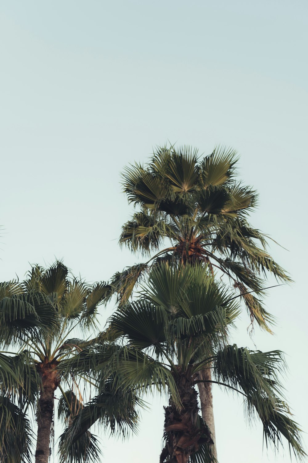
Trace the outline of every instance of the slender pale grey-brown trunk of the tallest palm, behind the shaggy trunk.
<instances>
[{"instance_id":1,"label":"slender pale grey-brown trunk of the tallest palm, behind the shaggy trunk","mask_svg":"<svg viewBox=\"0 0 308 463\"><path fill-rule=\"evenodd\" d=\"M211 381L211 369L207 368L199 371L199 379L203 381ZM217 460L216 436L215 436L215 422L213 413L213 396L212 387L210 382L199 382L199 398L201 404L202 418L208 425L211 431L211 438L213 441L212 455Z\"/></svg>"}]
</instances>

